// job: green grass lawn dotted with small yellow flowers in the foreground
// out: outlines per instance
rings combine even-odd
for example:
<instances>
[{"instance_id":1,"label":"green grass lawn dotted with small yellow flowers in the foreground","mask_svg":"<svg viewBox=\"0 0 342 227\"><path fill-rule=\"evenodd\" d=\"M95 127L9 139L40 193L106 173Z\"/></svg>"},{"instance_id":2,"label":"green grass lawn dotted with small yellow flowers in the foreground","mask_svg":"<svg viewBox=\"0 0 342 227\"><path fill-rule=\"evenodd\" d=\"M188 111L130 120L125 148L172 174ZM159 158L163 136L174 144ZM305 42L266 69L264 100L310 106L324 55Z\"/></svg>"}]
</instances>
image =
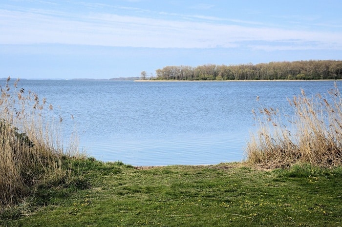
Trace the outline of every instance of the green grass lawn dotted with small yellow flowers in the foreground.
<instances>
[{"instance_id":1,"label":"green grass lawn dotted with small yellow flowers in the foreground","mask_svg":"<svg viewBox=\"0 0 342 227\"><path fill-rule=\"evenodd\" d=\"M37 189L0 226L342 226L342 167L138 169L88 159L74 168L82 169L76 187Z\"/></svg>"}]
</instances>

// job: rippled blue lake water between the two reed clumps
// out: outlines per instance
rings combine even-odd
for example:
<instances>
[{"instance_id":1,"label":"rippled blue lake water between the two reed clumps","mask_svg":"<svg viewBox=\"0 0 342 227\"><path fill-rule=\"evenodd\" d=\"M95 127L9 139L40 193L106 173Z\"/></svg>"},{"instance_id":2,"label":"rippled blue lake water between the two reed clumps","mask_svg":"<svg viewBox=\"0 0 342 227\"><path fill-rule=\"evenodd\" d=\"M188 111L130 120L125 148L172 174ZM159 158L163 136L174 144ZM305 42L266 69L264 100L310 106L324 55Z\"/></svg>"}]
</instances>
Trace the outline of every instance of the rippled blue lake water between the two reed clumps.
<instances>
[{"instance_id":1,"label":"rippled blue lake water between the two reed clumps","mask_svg":"<svg viewBox=\"0 0 342 227\"><path fill-rule=\"evenodd\" d=\"M262 103L287 111L286 98L299 95L300 88L313 95L333 86L333 81L19 83L57 109L66 135L76 126L88 155L130 165L241 161L250 132L256 130L252 108Z\"/></svg>"}]
</instances>

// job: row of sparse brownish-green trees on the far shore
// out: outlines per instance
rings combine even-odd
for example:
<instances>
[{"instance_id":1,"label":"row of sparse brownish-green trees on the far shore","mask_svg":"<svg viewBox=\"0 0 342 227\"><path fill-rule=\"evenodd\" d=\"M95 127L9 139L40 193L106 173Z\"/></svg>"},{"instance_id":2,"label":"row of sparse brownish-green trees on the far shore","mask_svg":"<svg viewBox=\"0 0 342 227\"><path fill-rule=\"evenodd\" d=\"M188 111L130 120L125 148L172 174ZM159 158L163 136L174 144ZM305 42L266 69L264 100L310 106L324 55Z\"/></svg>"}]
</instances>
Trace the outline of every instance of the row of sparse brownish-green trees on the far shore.
<instances>
[{"instance_id":1,"label":"row of sparse brownish-green trees on the far shore","mask_svg":"<svg viewBox=\"0 0 342 227\"><path fill-rule=\"evenodd\" d=\"M146 73L144 74L146 78ZM142 75L143 77L143 75ZM324 80L342 79L342 61L297 61L259 64L166 66L153 80Z\"/></svg>"}]
</instances>

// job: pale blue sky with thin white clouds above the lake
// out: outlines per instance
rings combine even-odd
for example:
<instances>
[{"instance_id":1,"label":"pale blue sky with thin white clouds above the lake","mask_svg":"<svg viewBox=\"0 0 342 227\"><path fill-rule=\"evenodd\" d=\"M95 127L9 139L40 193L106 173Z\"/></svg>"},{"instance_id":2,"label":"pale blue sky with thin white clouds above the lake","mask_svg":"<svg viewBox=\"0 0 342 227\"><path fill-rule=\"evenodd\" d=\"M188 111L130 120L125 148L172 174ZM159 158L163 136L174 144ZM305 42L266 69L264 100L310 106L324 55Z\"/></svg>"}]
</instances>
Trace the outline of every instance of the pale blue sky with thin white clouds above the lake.
<instances>
[{"instance_id":1,"label":"pale blue sky with thin white clouds above the lake","mask_svg":"<svg viewBox=\"0 0 342 227\"><path fill-rule=\"evenodd\" d=\"M342 60L341 0L1 0L0 78Z\"/></svg>"}]
</instances>

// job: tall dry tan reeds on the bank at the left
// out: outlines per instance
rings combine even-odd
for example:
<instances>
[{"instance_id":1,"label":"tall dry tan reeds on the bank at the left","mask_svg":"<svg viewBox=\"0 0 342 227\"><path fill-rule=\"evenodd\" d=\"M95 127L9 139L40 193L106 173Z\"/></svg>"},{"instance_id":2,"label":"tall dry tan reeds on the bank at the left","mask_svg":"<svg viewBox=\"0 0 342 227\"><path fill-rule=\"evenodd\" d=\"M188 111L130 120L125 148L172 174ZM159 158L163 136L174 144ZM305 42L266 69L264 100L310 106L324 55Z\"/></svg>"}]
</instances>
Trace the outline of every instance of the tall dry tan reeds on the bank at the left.
<instances>
[{"instance_id":1,"label":"tall dry tan reeds on the bank at the left","mask_svg":"<svg viewBox=\"0 0 342 227\"><path fill-rule=\"evenodd\" d=\"M0 86L0 206L20 202L43 181L65 181L63 159L79 156L74 145L65 153L53 106L18 88L10 78ZM73 141L75 143L75 141ZM77 143L76 143L77 144ZM1 211L1 210L0 210Z\"/></svg>"}]
</instances>

